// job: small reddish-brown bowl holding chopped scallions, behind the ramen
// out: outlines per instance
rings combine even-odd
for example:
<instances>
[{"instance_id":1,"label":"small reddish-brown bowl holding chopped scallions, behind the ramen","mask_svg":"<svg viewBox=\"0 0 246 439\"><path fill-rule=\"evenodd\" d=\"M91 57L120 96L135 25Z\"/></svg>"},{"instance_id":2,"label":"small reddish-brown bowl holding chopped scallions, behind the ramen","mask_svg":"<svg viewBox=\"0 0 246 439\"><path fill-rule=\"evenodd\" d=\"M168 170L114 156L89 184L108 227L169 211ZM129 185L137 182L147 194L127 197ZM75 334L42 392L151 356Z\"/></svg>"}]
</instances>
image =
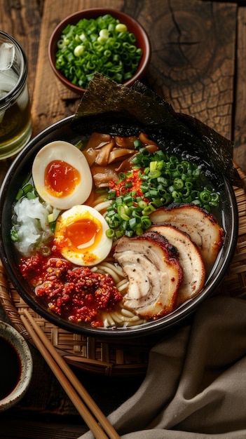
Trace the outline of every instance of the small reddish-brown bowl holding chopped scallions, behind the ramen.
<instances>
[{"instance_id":1,"label":"small reddish-brown bowl holding chopped scallions, behind the ramen","mask_svg":"<svg viewBox=\"0 0 246 439\"><path fill-rule=\"evenodd\" d=\"M61 35L62 35L62 31L68 26L68 25L77 25L77 23L80 20L86 19L86 20L96 20L98 17L102 17L104 15L111 15L114 19L119 20L120 23L122 23L123 25L125 25L128 29L128 32L130 32L130 34L135 35L135 42L134 45L137 49L142 50L142 55L140 60L137 62L137 68L132 70L132 74L130 74L128 72L128 79L123 79L123 80L116 80L116 76L112 77L110 73L108 73L111 77L111 79L116 80L119 83L123 83L125 86L131 86L132 83L134 83L135 81L142 79L142 77L144 76L144 74L146 73L146 69L149 67L149 62L151 60L151 43L149 41L149 36L148 34L146 34L146 31L144 30L144 28L142 27L142 25L140 25L140 23L135 20L134 18L132 18L130 15L127 15L121 11L117 11L115 9L110 9L110 8L90 8L90 9L83 9L82 11L78 11L76 13L73 13L71 15L69 15L67 18L64 18L64 20L62 20L59 25L57 25L57 27L55 27L53 34L50 36L50 41L49 41L49 45L48 45L48 57L50 60L50 65L53 69L53 72L55 73L55 76L57 76L57 78L64 84L64 86L66 86L67 88L69 88L71 91L73 91L74 93L78 94L78 95L83 95L83 93L85 93L86 88L83 85L78 85L77 80L71 80L71 78L68 79L67 75L62 72L62 70L59 68L57 68L57 62L56 62L56 53L57 53L57 43L59 45L60 41L61 41ZM79 41L79 46L83 46L83 42L80 40ZM66 49L67 50L67 49ZM105 52L105 50L107 50L107 52ZM99 56L101 57L100 54L103 53L109 53L109 50L107 48L105 48L105 50L97 50L97 52L95 54L93 54L93 57L96 57L97 59L99 59ZM116 50L116 49L114 49ZM117 49L118 50L118 49ZM85 52L83 53L82 56L84 55ZM116 59L121 56L120 54L117 54L117 51L114 53L114 60L111 58L109 58L109 60L107 61L106 59L102 62L102 67L100 67L98 65L98 62L95 62L95 65L97 67L95 67L95 70L93 71L93 67L89 69L86 68L85 72L86 74L92 76L93 72L97 71L103 74L107 74L107 72L104 70L104 66L107 64L107 62L111 63L111 70L116 69ZM73 55L71 55L73 58ZM78 58L75 60L76 62L78 61ZM128 64L130 65L132 63L132 61L127 60ZM117 61L117 65L118 65L118 61ZM118 68L118 67L117 67ZM102 71L103 69L103 71ZM79 68L78 68L79 70ZM126 71L126 70L125 70ZM77 71L78 72L78 71ZM78 76L80 75L80 73L78 73ZM75 77L75 76L74 76Z\"/></svg>"}]
</instances>

